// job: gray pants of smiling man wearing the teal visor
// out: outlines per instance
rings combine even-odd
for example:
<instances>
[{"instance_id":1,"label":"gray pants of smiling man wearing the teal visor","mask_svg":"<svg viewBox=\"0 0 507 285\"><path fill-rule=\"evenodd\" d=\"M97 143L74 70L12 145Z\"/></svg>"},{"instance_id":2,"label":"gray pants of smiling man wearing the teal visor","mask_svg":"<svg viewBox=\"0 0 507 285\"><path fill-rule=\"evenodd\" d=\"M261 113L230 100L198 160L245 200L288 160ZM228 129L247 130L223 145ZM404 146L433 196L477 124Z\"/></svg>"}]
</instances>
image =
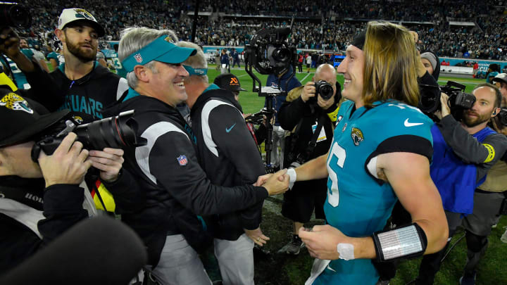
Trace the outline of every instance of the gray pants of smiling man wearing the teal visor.
<instances>
[{"instance_id":1,"label":"gray pants of smiling man wearing the teal visor","mask_svg":"<svg viewBox=\"0 0 507 285\"><path fill-rule=\"evenodd\" d=\"M163 285L211 284L199 255L181 234L167 236L160 261L151 275Z\"/></svg>"}]
</instances>

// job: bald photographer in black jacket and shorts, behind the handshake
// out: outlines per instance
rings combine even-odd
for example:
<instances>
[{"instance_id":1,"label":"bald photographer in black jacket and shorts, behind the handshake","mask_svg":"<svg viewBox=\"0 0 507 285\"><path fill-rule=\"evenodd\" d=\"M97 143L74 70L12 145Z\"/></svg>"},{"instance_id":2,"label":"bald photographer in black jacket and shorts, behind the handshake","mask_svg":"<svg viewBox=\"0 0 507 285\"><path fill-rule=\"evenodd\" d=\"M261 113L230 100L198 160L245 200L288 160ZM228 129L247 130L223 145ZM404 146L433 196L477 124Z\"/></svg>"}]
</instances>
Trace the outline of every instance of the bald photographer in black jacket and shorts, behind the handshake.
<instances>
[{"instance_id":1,"label":"bald photographer in black jacket and shorts, behind the handshake","mask_svg":"<svg viewBox=\"0 0 507 285\"><path fill-rule=\"evenodd\" d=\"M329 85L323 87L323 82ZM329 98L323 99L323 94L316 92L315 84L319 84L320 90L324 89L327 92L325 96ZM327 153L340 98L341 87L337 83L336 70L329 64L319 65L311 82L289 92L278 114L280 126L291 130L289 137L285 137L283 165L297 167ZM326 184L327 179L296 182L291 191L284 193L282 215L294 222L294 232L292 241L281 248L279 253L299 254L303 243L298 232L310 220L314 209L317 219L325 219L323 205L327 193Z\"/></svg>"}]
</instances>

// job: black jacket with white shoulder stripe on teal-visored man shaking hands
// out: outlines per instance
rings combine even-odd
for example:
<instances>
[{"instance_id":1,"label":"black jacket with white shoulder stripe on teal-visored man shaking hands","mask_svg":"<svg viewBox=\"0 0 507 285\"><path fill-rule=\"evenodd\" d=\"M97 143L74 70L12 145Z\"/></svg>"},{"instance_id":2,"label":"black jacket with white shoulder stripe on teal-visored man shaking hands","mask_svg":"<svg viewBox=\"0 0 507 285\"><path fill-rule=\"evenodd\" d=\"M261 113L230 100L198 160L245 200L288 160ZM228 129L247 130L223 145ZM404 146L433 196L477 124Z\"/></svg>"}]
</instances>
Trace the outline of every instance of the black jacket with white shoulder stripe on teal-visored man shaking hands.
<instances>
[{"instance_id":1,"label":"black jacket with white shoulder stripe on teal-visored man shaking hands","mask_svg":"<svg viewBox=\"0 0 507 285\"><path fill-rule=\"evenodd\" d=\"M127 148L123 167L134 175L144 198L131 205L130 213L124 209L122 220L148 247L149 264L158 263L167 235L183 234L199 249L203 232L196 215L231 213L268 196L263 187L211 184L199 166L192 130L175 108L149 96L120 104L120 111L132 109L137 135L147 144Z\"/></svg>"}]
</instances>

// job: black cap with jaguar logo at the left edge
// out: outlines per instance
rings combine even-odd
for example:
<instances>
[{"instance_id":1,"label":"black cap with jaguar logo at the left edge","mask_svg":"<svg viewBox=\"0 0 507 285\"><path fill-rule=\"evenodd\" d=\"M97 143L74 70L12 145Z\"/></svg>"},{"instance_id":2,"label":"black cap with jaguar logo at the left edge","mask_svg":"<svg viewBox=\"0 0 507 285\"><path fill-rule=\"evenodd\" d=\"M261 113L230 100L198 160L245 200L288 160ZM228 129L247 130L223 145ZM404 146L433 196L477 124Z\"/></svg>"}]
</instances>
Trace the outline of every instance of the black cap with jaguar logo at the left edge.
<instances>
[{"instance_id":1,"label":"black cap with jaguar logo at the left edge","mask_svg":"<svg viewBox=\"0 0 507 285\"><path fill-rule=\"evenodd\" d=\"M65 109L49 113L41 104L0 88L0 148L29 140L69 112Z\"/></svg>"}]
</instances>

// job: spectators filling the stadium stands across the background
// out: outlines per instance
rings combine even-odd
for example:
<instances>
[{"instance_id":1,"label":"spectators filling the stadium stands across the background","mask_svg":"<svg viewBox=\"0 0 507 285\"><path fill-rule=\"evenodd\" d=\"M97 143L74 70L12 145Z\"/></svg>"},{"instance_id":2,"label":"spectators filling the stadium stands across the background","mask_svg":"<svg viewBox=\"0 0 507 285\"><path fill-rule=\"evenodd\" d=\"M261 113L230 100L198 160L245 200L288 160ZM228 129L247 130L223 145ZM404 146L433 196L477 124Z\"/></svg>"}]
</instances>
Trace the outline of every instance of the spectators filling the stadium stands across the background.
<instances>
[{"instance_id":1,"label":"spectators filling the stadium stands across the background","mask_svg":"<svg viewBox=\"0 0 507 285\"><path fill-rule=\"evenodd\" d=\"M20 1L32 9L33 25L25 36L34 42L53 38L58 11L65 1ZM292 3L294 2L294 3ZM133 25L169 28L181 40L192 41L193 1L77 1L104 22L106 39L118 40L120 30ZM212 12L200 18L196 43L212 46L242 46L261 27L290 25L290 19L270 18L280 15L296 18L292 42L299 49L328 49L344 51L366 20L394 20L416 30L423 41L422 49L435 51L438 56L477 59L507 59L506 17L496 9L496 1L430 1L420 9L418 1L272 1L269 5L256 1L230 1L218 5L201 1L202 12ZM269 7L269 8L268 8ZM480 8L480 13L476 7ZM213 16L216 12L231 16ZM235 15L235 16L233 16ZM247 16L263 15L263 18ZM334 17L331 19L331 16ZM306 18L305 18L306 17ZM358 21L363 19L363 21ZM449 25L451 20L474 23L472 26ZM37 40L37 41L35 41ZM44 44L39 44L44 46Z\"/></svg>"}]
</instances>

